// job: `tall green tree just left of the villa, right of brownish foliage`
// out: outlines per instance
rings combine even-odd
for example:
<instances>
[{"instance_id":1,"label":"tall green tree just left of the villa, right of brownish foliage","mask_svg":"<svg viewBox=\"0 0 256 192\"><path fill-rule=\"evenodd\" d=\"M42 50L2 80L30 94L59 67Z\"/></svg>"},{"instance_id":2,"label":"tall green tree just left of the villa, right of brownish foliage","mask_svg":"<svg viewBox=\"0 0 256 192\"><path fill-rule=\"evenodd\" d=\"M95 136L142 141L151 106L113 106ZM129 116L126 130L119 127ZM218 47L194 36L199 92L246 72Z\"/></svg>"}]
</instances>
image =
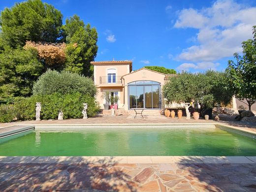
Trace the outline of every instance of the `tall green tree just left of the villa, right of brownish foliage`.
<instances>
[{"instance_id":1,"label":"tall green tree just left of the villa, right of brownish foliage","mask_svg":"<svg viewBox=\"0 0 256 192\"><path fill-rule=\"evenodd\" d=\"M96 29L90 24L85 25L79 16L74 15L66 20L64 32L67 43L65 69L92 76L90 62L94 61L98 50Z\"/></svg>"}]
</instances>

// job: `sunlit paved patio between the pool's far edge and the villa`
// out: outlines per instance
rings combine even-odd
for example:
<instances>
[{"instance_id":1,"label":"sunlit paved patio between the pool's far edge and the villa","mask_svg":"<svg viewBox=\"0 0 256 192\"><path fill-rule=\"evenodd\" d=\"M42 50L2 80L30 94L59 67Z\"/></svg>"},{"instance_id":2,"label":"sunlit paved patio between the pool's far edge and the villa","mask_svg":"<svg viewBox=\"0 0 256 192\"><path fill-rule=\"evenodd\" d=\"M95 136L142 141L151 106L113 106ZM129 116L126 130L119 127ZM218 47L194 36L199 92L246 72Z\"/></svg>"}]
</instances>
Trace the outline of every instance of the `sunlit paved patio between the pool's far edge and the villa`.
<instances>
[{"instance_id":1,"label":"sunlit paved patio between the pool's far edge and the villa","mask_svg":"<svg viewBox=\"0 0 256 192\"><path fill-rule=\"evenodd\" d=\"M222 118L221 118L222 120ZM0 128L16 126L16 125L87 125L87 124L223 124L227 126L232 126L240 128L242 130L247 130L249 132L256 133L256 124L249 122L237 122L234 121L234 117L224 118L224 121L213 121L213 120L194 120L186 119L186 117L178 118L167 118L163 115L161 116L149 116L146 119L136 118L131 119L128 116L97 116L95 118L88 119L67 119L67 120L42 120L42 121L23 121L23 122L13 122L13 123L0 123Z\"/></svg>"}]
</instances>

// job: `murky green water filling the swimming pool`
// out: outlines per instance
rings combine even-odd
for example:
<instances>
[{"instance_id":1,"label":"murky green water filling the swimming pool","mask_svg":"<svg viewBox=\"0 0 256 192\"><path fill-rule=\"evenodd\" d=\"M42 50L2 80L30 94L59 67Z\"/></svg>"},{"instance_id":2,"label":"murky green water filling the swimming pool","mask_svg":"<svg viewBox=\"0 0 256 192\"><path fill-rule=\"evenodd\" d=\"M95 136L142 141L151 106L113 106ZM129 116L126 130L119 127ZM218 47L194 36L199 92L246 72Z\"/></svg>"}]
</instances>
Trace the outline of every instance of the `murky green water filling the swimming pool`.
<instances>
[{"instance_id":1,"label":"murky green water filling the swimming pool","mask_svg":"<svg viewBox=\"0 0 256 192\"><path fill-rule=\"evenodd\" d=\"M256 139L219 128L29 131L0 156L256 156Z\"/></svg>"}]
</instances>

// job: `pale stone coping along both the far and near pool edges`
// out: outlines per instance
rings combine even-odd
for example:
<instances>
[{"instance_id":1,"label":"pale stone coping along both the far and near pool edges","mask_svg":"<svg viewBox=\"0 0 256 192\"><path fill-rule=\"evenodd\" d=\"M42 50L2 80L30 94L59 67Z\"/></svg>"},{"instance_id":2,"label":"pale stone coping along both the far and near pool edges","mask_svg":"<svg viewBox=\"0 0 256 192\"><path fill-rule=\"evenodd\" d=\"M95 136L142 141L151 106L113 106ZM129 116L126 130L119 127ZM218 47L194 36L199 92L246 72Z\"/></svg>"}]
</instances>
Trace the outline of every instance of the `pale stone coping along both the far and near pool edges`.
<instances>
[{"instance_id":1,"label":"pale stone coping along both the far and near pool edges","mask_svg":"<svg viewBox=\"0 0 256 192\"><path fill-rule=\"evenodd\" d=\"M33 126L35 129L40 127L80 127L88 128L90 126L101 127L107 126L107 128L113 128L115 126L216 126L217 128L229 128L235 131L240 131L244 133L249 133L254 135L256 138L256 132L251 130L245 130L243 128L238 128L224 123L173 123L173 124L40 124L40 125L19 125L19 126ZM80 129L79 128L79 129ZM42 130L42 129L40 129ZM17 132L19 133L19 132ZM239 132L238 132L239 133ZM15 133L14 133L15 134ZM239 133L240 134L240 133ZM256 163L256 156L0 156L0 163L63 163L63 164L72 164L72 163Z\"/></svg>"}]
</instances>

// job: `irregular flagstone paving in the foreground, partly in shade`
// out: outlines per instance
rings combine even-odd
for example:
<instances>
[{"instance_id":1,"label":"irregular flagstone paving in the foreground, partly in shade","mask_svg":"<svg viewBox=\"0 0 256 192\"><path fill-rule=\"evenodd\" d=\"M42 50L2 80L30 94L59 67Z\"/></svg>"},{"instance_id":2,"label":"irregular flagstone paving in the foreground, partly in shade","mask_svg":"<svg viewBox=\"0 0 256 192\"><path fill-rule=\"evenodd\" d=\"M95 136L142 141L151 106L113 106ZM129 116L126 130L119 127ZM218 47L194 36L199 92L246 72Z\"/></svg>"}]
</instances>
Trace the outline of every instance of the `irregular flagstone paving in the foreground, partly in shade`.
<instances>
[{"instance_id":1,"label":"irregular flagstone paving in the foreground, partly in shade","mask_svg":"<svg viewBox=\"0 0 256 192\"><path fill-rule=\"evenodd\" d=\"M256 192L256 164L0 163L1 192Z\"/></svg>"}]
</instances>

